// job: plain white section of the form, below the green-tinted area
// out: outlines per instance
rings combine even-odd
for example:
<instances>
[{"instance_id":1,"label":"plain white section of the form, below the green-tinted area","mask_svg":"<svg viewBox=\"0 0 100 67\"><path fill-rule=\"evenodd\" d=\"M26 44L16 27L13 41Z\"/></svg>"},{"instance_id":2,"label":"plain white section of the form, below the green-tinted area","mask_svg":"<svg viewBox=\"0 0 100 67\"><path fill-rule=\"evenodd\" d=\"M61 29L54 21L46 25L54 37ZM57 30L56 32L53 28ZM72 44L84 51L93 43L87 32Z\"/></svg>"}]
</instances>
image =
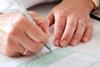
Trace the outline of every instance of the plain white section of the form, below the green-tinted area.
<instances>
[{"instance_id":1,"label":"plain white section of the form, below the green-tinted area","mask_svg":"<svg viewBox=\"0 0 100 67\"><path fill-rule=\"evenodd\" d=\"M96 58L81 53L73 53L49 67L89 67L95 62L97 62Z\"/></svg>"}]
</instances>

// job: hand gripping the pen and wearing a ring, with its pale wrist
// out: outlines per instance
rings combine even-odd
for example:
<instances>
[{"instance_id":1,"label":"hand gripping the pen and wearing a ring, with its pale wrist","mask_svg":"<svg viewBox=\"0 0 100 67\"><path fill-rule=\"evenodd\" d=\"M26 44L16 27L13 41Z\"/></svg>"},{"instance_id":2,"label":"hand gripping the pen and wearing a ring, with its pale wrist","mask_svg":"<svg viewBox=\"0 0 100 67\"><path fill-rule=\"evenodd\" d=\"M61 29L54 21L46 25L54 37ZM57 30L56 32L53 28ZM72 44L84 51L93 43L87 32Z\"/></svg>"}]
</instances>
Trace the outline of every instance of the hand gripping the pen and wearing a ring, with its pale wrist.
<instances>
[{"instance_id":1,"label":"hand gripping the pen and wearing a ring, with its pale wrist","mask_svg":"<svg viewBox=\"0 0 100 67\"><path fill-rule=\"evenodd\" d=\"M36 25L20 13L0 15L0 51L8 56L38 53L48 39L48 21L30 13Z\"/></svg>"}]
</instances>

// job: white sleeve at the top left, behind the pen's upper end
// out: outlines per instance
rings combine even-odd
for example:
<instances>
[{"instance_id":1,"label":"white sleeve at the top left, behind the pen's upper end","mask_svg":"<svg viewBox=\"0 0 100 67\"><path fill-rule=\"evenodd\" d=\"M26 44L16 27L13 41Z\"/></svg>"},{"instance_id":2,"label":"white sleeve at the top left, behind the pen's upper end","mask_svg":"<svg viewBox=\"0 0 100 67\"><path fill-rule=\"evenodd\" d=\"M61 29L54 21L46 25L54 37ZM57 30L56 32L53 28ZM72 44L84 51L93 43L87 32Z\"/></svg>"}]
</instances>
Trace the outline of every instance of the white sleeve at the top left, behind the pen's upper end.
<instances>
[{"instance_id":1,"label":"white sleeve at the top left, behind the pen's upper end","mask_svg":"<svg viewBox=\"0 0 100 67\"><path fill-rule=\"evenodd\" d=\"M14 5L11 5L13 1L14 0L0 0L0 11L8 9L8 8L10 9L15 8ZM25 8L29 8L39 3L52 2L52 1L54 0L21 0Z\"/></svg>"}]
</instances>

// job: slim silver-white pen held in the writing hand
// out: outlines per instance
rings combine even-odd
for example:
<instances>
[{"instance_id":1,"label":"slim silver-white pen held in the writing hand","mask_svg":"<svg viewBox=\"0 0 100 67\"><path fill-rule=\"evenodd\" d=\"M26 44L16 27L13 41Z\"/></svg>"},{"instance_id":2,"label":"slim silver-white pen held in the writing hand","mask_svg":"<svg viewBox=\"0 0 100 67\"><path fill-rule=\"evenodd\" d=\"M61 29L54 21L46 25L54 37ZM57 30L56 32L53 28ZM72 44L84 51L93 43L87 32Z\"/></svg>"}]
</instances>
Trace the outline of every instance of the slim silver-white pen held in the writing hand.
<instances>
[{"instance_id":1,"label":"slim silver-white pen held in the writing hand","mask_svg":"<svg viewBox=\"0 0 100 67\"><path fill-rule=\"evenodd\" d=\"M16 5L16 7L18 8L18 10L27 17L27 19L34 25L36 25L34 19L32 18L32 16L28 13L28 11L25 9L25 7L23 6L23 4L19 1L19 0L14 0L14 4ZM50 52L52 52L53 50L50 48L50 44L48 45L44 45Z\"/></svg>"}]
</instances>

